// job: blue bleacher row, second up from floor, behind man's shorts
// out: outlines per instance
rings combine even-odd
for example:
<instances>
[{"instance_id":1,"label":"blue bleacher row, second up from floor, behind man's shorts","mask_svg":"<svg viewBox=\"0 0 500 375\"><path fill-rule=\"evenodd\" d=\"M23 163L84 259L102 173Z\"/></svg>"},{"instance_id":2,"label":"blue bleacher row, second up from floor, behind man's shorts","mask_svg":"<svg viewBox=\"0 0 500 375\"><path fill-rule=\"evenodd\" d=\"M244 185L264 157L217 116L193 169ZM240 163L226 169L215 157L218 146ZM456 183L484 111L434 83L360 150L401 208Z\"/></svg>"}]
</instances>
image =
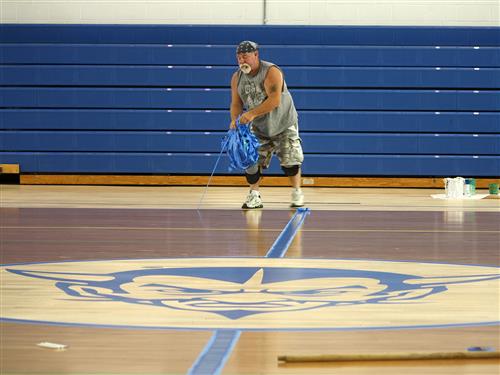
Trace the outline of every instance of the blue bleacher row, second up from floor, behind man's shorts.
<instances>
[{"instance_id":1,"label":"blue bleacher row, second up from floor, behind man's shorts","mask_svg":"<svg viewBox=\"0 0 500 375\"><path fill-rule=\"evenodd\" d=\"M215 152L224 132L5 131L6 151ZM314 154L498 155L496 134L307 133L304 147Z\"/></svg>"}]
</instances>

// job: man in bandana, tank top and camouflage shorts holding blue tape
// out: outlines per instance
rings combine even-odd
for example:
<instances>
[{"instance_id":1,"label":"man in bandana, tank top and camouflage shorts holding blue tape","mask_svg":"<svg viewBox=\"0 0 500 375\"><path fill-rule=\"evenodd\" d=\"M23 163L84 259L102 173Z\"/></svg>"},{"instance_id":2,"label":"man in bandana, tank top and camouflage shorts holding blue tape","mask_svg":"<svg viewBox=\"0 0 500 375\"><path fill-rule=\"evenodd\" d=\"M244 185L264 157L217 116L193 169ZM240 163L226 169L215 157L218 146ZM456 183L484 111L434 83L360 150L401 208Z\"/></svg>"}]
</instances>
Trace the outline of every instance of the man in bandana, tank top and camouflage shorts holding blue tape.
<instances>
[{"instance_id":1,"label":"man in bandana, tank top and camouflage shorts holding blue tape","mask_svg":"<svg viewBox=\"0 0 500 375\"><path fill-rule=\"evenodd\" d=\"M231 124L252 122L252 132L259 139L258 162L245 170L250 192L242 208L262 208L259 183L263 169L269 167L273 153L293 187L291 207L304 205L300 188L304 160L298 132L298 116L283 72L273 63L260 60L258 45L243 41L236 48L239 70L231 79ZM244 112L246 109L246 112Z\"/></svg>"}]
</instances>

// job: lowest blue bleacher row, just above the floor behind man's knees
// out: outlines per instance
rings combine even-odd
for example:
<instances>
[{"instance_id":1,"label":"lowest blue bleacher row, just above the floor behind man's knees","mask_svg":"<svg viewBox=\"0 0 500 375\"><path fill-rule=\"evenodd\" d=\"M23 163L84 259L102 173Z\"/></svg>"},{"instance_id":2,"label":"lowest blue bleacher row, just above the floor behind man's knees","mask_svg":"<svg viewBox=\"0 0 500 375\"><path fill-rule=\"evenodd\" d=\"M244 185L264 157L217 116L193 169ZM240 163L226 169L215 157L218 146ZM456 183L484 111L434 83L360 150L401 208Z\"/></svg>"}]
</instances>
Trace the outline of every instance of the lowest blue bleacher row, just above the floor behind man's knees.
<instances>
[{"instance_id":1,"label":"lowest blue bleacher row, just above the floor behind man's knees","mask_svg":"<svg viewBox=\"0 0 500 375\"><path fill-rule=\"evenodd\" d=\"M160 173L207 174L218 154L201 153L57 153L6 152L3 163L20 163L23 171L51 173ZM228 158L222 158L218 173L228 173ZM463 155L316 155L310 154L304 169L311 175L372 176L491 176L500 170L498 156ZM392 171L389 175L387 171ZM276 160L271 174L281 174Z\"/></svg>"}]
</instances>

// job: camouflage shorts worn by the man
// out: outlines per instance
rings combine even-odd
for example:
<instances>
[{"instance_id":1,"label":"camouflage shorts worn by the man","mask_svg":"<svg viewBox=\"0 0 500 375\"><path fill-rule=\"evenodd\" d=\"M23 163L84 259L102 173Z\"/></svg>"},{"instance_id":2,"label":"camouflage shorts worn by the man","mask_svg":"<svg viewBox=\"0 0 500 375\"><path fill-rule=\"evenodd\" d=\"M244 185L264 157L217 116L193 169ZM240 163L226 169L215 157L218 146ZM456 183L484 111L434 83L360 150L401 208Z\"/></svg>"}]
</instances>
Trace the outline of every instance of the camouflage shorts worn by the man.
<instances>
[{"instance_id":1,"label":"camouflage shorts worn by the man","mask_svg":"<svg viewBox=\"0 0 500 375\"><path fill-rule=\"evenodd\" d=\"M260 142L259 165L269 167L273 153L276 154L282 166L301 165L304 161L302 141L294 127L268 138L256 134Z\"/></svg>"}]
</instances>

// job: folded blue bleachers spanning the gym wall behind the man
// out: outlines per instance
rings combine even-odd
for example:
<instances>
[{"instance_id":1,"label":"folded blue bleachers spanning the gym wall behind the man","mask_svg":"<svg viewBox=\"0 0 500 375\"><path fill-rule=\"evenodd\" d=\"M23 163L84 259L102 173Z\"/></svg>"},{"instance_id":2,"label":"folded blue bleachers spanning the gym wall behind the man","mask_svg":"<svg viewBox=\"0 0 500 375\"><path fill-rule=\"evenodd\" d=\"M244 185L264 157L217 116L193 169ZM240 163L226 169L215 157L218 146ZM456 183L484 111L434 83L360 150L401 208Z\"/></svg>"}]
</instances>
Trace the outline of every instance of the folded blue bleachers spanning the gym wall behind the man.
<instances>
[{"instance_id":1,"label":"folded blue bleachers spanning the gym wall behind the man","mask_svg":"<svg viewBox=\"0 0 500 375\"><path fill-rule=\"evenodd\" d=\"M500 175L488 27L0 25L0 163L210 174L245 39L284 70L305 175Z\"/></svg>"}]
</instances>

